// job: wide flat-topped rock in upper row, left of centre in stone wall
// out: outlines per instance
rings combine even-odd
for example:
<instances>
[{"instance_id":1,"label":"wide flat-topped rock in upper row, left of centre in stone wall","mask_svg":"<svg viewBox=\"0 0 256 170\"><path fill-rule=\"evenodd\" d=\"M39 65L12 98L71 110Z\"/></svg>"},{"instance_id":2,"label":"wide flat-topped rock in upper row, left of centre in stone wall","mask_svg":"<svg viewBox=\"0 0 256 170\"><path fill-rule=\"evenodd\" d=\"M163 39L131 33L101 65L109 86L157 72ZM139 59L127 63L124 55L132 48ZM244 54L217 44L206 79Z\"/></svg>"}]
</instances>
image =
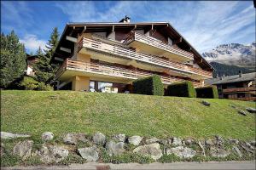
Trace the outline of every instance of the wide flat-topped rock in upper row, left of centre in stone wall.
<instances>
[{"instance_id":1,"label":"wide flat-topped rock in upper row, left of centre in stone wall","mask_svg":"<svg viewBox=\"0 0 256 170\"><path fill-rule=\"evenodd\" d=\"M79 141L88 142L85 133L67 133L63 138L64 144L77 144Z\"/></svg>"}]
</instances>

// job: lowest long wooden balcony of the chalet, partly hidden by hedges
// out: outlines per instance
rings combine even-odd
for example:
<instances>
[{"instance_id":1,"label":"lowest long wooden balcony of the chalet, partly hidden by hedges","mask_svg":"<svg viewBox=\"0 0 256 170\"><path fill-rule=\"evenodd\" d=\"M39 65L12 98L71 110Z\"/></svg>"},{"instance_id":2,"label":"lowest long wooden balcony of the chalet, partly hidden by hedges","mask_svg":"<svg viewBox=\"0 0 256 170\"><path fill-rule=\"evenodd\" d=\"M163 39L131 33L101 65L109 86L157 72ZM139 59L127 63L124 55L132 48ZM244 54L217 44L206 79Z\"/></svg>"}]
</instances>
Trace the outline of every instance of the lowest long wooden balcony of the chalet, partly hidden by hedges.
<instances>
[{"instance_id":1,"label":"lowest long wooden balcony of the chalet, partly hidden by hedges","mask_svg":"<svg viewBox=\"0 0 256 170\"><path fill-rule=\"evenodd\" d=\"M119 77L125 80L136 80L140 77L148 77L152 76L153 74L145 72L145 71L136 71L131 69L125 69L117 66L112 65L102 65L98 63L86 63L83 61L73 60L73 59L66 59L58 71L55 73L55 79L62 77L62 75L66 71L79 71L83 72L84 76L90 75L90 77L94 77L96 75L103 75L108 77ZM86 75L88 74L88 75ZM171 84L173 82L183 82L183 79L179 79L176 77L166 77L159 75L162 82L164 84ZM192 82L195 87L200 87L200 82Z\"/></svg>"}]
</instances>

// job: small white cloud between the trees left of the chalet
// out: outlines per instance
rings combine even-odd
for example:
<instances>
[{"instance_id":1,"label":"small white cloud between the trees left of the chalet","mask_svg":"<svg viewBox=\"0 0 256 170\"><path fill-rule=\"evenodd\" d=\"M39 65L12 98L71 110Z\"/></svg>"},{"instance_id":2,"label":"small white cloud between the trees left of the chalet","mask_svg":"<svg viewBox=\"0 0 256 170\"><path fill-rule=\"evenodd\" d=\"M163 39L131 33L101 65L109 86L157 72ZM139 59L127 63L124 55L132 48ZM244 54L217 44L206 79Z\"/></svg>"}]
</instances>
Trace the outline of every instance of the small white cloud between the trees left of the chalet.
<instances>
[{"instance_id":1,"label":"small white cloud between the trees left of the chalet","mask_svg":"<svg viewBox=\"0 0 256 170\"><path fill-rule=\"evenodd\" d=\"M46 41L38 39L36 35L27 34L24 38L20 39L21 43L24 43L25 48L29 52L35 53L39 47L46 49Z\"/></svg>"}]
</instances>

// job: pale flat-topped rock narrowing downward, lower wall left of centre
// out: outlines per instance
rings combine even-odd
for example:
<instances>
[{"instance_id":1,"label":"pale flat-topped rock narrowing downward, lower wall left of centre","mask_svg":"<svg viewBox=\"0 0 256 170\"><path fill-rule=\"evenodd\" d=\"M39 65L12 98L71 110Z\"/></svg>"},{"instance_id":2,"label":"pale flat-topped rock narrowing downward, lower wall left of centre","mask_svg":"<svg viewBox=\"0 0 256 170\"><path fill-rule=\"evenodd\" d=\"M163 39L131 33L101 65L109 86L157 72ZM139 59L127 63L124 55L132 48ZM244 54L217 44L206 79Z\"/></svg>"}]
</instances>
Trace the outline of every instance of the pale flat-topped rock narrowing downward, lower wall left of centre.
<instances>
[{"instance_id":1,"label":"pale flat-topped rock narrowing downward, lower wall left of centre","mask_svg":"<svg viewBox=\"0 0 256 170\"><path fill-rule=\"evenodd\" d=\"M97 161L99 159L96 146L92 146L88 148L80 148L78 150L79 150L80 156L86 159L86 161Z\"/></svg>"}]
</instances>

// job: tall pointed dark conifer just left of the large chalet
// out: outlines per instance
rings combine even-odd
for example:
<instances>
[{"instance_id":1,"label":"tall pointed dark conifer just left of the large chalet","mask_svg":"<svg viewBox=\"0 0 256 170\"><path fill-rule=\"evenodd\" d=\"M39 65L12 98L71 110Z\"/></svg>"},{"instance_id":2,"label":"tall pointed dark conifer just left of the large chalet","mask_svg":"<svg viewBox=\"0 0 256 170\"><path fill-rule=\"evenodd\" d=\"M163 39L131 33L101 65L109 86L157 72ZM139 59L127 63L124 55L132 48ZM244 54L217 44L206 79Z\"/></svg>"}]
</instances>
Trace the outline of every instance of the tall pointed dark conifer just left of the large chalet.
<instances>
[{"instance_id":1,"label":"tall pointed dark conifer just left of the large chalet","mask_svg":"<svg viewBox=\"0 0 256 170\"><path fill-rule=\"evenodd\" d=\"M53 57L58 42L59 33L58 29L55 27L50 35L49 41L46 45L47 49L44 50L44 53L40 47L36 52L38 55L38 61L33 65L33 70L35 71L38 82L49 84L53 81L56 68L53 65L50 65L50 60Z\"/></svg>"}]
</instances>

